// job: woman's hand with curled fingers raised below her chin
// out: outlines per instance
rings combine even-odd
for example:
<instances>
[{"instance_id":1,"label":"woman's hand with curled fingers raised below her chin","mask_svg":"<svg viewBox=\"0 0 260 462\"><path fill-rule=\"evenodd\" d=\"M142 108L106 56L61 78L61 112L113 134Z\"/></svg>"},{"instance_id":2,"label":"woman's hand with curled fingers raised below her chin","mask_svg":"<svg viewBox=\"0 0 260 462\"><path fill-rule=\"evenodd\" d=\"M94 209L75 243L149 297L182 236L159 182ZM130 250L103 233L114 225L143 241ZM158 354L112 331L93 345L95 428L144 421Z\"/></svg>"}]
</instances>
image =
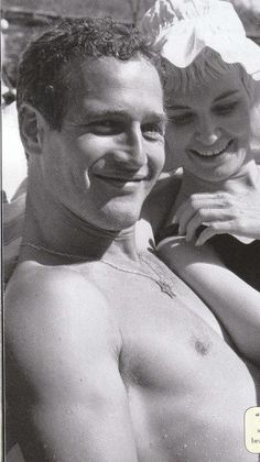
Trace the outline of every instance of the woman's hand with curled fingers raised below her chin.
<instances>
[{"instance_id":1,"label":"woman's hand with curled fingers raised below her chin","mask_svg":"<svg viewBox=\"0 0 260 462\"><path fill-rule=\"evenodd\" d=\"M191 241L201 226L206 228L196 240L203 245L215 234L236 234L260 239L260 191L194 194L182 204L174 216L178 233Z\"/></svg>"}]
</instances>

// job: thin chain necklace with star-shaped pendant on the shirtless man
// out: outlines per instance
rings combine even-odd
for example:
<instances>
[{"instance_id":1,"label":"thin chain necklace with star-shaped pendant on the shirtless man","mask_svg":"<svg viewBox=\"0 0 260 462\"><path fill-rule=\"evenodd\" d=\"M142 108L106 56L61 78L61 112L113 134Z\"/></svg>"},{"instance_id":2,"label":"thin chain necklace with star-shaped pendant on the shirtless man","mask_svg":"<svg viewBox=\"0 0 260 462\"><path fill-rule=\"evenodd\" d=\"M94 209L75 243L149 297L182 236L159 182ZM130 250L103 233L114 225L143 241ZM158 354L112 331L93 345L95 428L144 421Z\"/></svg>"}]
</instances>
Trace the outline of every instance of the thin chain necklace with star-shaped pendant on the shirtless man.
<instances>
[{"instance_id":1,"label":"thin chain necklace with star-shaped pendant on the shirtless man","mask_svg":"<svg viewBox=\"0 0 260 462\"><path fill-rule=\"evenodd\" d=\"M30 242L24 242L24 243L21 244L21 246L23 246L23 248L24 246L29 246L29 248L32 248L32 249L35 249L35 250L39 250L39 251L43 251L43 252L50 253L51 255L67 256L68 258L78 258L80 261L86 261L86 257L84 257L82 255L72 255L69 253L56 252L56 251L53 251L51 249L43 248L41 245L32 244ZM156 273L156 271L147 261L147 258L144 258L141 255L139 255L139 257L140 257L140 260L143 263L145 263L147 266L149 266L149 268L156 275L156 277L153 277L153 276L151 276L151 275L149 275L147 273L143 273L141 271L138 271L138 270L129 270L129 268L126 268L126 267L122 267L122 266L118 266L115 263L108 262L105 258L99 258L99 260L88 258L88 260L90 260L91 262L100 262L100 263L104 263L105 265L108 265L108 266L112 267L113 270L120 271L121 273L136 274L138 276L142 276L142 277L145 277L145 278L148 278L150 280L153 280L161 288L161 292L162 293L169 295L169 297L171 297L171 298L174 298L176 296L176 294L172 290L171 285L169 283L166 283L165 280L162 279L162 276Z\"/></svg>"}]
</instances>

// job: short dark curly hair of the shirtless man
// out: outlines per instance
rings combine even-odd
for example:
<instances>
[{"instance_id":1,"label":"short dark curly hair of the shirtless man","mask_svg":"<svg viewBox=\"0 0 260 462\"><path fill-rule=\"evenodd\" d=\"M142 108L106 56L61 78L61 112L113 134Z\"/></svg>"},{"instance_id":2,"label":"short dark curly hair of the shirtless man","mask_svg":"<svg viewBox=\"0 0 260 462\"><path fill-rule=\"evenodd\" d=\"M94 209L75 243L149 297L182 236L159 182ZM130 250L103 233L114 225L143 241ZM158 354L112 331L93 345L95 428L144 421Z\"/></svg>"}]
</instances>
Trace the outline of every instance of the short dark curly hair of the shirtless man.
<instances>
[{"instance_id":1,"label":"short dark curly hair of the shirtless man","mask_svg":"<svg viewBox=\"0 0 260 462\"><path fill-rule=\"evenodd\" d=\"M113 56L129 61L136 54L148 58L163 79L160 56L137 28L111 18L65 20L31 43L18 75L18 108L28 102L37 109L50 127L61 130L67 109L64 66L88 56Z\"/></svg>"}]
</instances>

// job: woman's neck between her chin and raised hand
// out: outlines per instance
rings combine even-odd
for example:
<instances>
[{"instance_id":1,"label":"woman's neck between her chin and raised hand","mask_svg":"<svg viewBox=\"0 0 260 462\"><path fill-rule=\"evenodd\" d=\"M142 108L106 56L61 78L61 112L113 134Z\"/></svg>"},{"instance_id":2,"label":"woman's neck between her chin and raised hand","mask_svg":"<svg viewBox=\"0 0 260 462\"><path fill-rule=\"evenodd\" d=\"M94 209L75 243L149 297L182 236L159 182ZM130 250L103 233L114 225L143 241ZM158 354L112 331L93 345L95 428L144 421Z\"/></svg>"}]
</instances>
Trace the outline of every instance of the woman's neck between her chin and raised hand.
<instances>
[{"instance_id":1,"label":"woman's neck between her chin and raised hand","mask_svg":"<svg viewBox=\"0 0 260 462\"><path fill-rule=\"evenodd\" d=\"M193 194L229 191L235 194L248 193L259 185L259 168L254 161L245 164L230 178L219 182L207 182L189 174L184 169L182 186L177 196L177 207Z\"/></svg>"}]
</instances>

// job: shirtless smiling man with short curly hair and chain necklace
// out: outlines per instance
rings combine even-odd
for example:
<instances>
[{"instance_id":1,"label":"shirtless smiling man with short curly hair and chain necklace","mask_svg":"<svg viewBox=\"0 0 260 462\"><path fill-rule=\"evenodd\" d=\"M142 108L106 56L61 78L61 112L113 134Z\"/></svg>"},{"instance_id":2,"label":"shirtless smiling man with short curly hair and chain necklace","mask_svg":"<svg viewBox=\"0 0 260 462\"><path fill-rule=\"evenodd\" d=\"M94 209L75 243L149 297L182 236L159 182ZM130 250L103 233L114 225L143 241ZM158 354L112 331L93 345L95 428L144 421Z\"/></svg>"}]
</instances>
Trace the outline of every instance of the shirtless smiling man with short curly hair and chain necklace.
<instances>
[{"instance_id":1,"label":"shirtless smiling man with short curly hair and chain necklace","mask_svg":"<svg viewBox=\"0 0 260 462\"><path fill-rule=\"evenodd\" d=\"M160 67L137 31L65 23L26 52L23 246L7 289L7 397L26 462L257 461L256 371L134 241L164 162Z\"/></svg>"}]
</instances>

